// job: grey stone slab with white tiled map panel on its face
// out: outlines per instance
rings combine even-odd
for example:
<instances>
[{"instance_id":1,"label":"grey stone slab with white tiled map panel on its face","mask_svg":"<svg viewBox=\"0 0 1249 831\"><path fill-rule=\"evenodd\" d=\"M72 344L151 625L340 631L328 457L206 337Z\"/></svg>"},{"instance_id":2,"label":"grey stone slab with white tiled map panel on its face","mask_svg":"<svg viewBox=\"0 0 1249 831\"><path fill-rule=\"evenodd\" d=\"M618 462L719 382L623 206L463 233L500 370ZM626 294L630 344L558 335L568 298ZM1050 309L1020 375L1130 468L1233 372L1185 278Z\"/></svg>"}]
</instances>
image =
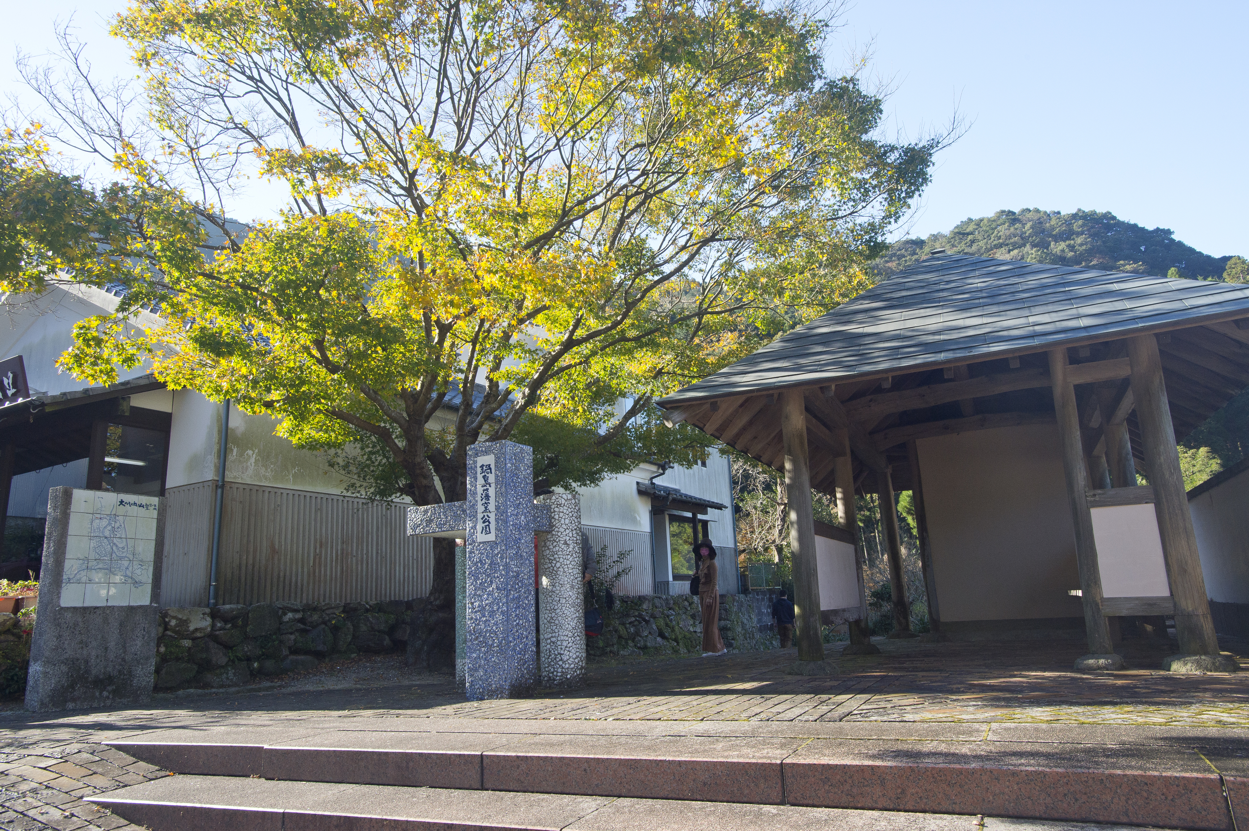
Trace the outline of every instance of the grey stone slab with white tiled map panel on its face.
<instances>
[{"instance_id":1,"label":"grey stone slab with white tiled map panel on its face","mask_svg":"<svg viewBox=\"0 0 1249 831\"><path fill-rule=\"evenodd\" d=\"M151 697L165 500L52 488L30 646L26 709Z\"/></svg>"}]
</instances>

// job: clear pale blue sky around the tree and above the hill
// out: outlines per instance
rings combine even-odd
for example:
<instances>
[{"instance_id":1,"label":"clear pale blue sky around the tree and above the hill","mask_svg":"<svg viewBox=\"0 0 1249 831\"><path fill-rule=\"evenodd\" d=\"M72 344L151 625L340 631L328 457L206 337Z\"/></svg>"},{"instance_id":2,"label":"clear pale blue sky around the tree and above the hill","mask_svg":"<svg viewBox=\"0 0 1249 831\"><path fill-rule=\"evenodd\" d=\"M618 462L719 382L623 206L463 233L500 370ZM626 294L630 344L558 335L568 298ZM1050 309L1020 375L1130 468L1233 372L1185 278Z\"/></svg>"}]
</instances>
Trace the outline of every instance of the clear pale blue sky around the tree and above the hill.
<instances>
[{"instance_id":1,"label":"clear pale blue sky around the tree and above the hill","mask_svg":"<svg viewBox=\"0 0 1249 831\"><path fill-rule=\"evenodd\" d=\"M16 49L46 51L52 21L75 12L97 70L130 71L102 22L124 5L11 4L6 91ZM1087 208L1172 228L1209 255L1249 255L1249 4L858 0L841 22L829 62L871 46L864 77L893 90L891 135L939 129L955 110L968 122L911 233L999 208Z\"/></svg>"}]
</instances>

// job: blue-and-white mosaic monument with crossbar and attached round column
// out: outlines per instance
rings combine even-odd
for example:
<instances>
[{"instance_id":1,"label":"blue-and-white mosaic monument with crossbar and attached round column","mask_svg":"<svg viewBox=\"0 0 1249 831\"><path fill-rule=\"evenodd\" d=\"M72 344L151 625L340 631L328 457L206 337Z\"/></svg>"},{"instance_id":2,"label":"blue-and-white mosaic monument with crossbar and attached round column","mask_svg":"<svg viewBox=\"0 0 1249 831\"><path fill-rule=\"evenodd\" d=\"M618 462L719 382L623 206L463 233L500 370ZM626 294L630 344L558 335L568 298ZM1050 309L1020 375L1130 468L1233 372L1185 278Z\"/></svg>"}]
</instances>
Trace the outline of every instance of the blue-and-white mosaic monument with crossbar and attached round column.
<instances>
[{"instance_id":1,"label":"blue-and-white mosaic monument with crossbar and attached round column","mask_svg":"<svg viewBox=\"0 0 1249 831\"><path fill-rule=\"evenodd\" d=\"M543 532L536 580L533 535ZM465 540L465 690L471 701L517 697L536 685L535 583L541 586L542 683L581 683L581 505L575 494L535 504L532 448L471 445L467 502L410 508L407 533Z\"/></svg>"}]
</instances>

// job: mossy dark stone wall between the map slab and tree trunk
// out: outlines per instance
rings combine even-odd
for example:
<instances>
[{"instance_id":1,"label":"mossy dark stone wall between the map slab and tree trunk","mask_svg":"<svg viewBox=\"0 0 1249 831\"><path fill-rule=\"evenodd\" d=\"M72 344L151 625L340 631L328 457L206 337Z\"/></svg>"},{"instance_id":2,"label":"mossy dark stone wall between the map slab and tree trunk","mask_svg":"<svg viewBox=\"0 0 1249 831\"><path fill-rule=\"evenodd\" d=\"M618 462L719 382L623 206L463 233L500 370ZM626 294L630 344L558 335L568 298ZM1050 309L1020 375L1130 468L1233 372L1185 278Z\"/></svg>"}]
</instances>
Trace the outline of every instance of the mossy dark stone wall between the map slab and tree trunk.
<instances>
[{"instance_id":1,"label":"mossy dark stone wall between the map slab and tree trunk","mask_svg":"<svg viewBox=\"0 0 1249 831\"><path fill-rule=\"evenodd\" d=\"M413 603L425 600L162 609L156 689L237 686L330 655L403 651Z\"/></svg>"}]
</instances>

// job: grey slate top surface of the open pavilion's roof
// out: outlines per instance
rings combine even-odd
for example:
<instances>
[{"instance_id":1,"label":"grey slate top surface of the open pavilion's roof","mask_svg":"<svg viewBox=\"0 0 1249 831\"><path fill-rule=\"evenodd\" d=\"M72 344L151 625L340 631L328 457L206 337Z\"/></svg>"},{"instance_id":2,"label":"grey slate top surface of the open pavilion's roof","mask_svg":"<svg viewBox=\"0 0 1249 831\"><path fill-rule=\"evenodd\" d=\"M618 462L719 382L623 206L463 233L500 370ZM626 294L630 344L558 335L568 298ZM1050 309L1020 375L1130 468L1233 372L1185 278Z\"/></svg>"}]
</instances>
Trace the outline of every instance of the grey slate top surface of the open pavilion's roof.
<instances>
[{"instance_id":1,"label":"grey slate top surface of the open pavilion's roof","mask_svg":"<svg viewBox=\"0 0 1249 831\"><path fill-rule=\"evenodd\" d=\"M1249 316L1249 286L938 255L659 399L664 408Z\"/></svg>"}]
</instances>

